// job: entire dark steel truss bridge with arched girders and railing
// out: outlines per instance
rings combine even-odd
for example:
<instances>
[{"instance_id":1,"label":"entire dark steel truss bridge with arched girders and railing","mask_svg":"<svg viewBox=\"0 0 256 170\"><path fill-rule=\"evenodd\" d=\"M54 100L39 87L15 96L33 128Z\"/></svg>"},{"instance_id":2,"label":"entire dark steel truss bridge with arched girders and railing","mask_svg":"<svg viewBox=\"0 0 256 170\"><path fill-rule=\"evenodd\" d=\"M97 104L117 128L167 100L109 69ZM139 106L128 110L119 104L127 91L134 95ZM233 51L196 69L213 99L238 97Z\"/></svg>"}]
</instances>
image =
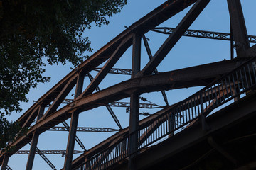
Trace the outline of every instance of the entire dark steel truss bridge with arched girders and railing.
<instances>
[{"instance_id":1,"label":"entire dark steel truss bridge with arched girders and railing","mask_svg":"<svg viewBox=\"0 0 256 170\"><path fill-rule=\"evenodd\" d=\"M217 154L225 159L225 164L221 162L224 169L255 168L255 157L247 157L245 150L255 154L252 143L256 134L253 114L256 111L256 45L250 46L250 43L255 43L256 37L247 35L240 0L227 1L230 33L188 30L210 0L169 0L129 26L18 118L28 133L9 143L14 149L1 151L1 169L11 169L8 161L13 154L28 154L26 169L32 169L35 154L40 154L52 169L56 168L45 154L62 154L63 169L164 169L165 166L198 169L208 163L209 158L215 160ZM188 6L192 7L176 28L158 27ZM168 35L154 55L144 35L149 31ZM183 35L230 41L230 60L159 72L157 67ZM142 40L149 62L140 68ZM113 68L131 46L132 69ZM102 63L105 63L103 67ZM97 71L95 77L92 71ZM100 89L107 74L126 74L130 78ZM85 77L90 79L88 86L83 85ZM204 87L185 100L169 105L166 91L194 86ZM68 94L73 89L74 98L70 99ZM161 91L166 106L141 97L154 91ZM129 98L130 102L120 102L123 98ZM227 107L216 111L227 103ZM80 113L100 106L107 108L119 129L78 127ZM129 127L122 128L112 107L127 108ZM139 121L140 114L149 115L139 113L139 108L161 109ZM70 124L65 122L69 118ZM57 126L60 123L63 126ZM47 130L69 131L66 150L38 149L38 137ZM118 132L87 150L76 136L77 131ZM82 148L82 154L73 159L73 154L81 153L74 150L75 142ZM31 145L29 151L20 150L27 144ZM238 154L231 152L229 146L236 148ZM241 152L243 154L239 154ZM210 153L213 154L208 156Z\"/></svg>"}]
</instances>

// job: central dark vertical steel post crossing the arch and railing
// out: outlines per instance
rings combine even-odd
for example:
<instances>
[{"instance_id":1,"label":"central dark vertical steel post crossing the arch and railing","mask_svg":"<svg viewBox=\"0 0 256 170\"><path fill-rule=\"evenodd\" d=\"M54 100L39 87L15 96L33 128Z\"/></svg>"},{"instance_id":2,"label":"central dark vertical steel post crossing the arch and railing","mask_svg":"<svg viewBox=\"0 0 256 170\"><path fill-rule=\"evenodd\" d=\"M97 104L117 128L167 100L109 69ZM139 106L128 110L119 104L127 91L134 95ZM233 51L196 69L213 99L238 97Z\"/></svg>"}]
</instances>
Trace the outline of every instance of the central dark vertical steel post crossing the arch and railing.
<instances>
[{"instance_id":1,"label":"central dark vertical steel post crossing the arch and railing","mask_svg":"<svg viewBox=\"0 0 256 170\"><path fill-rule=\"evenodd\" d=\"M132 46L132 78L140 71L141 64L141 44L142 38L140 35L134 33ZM139 92L134 91L130 97L130 116L129 116L129 167L128 169L135 169L132 162L132 154L137 150L138 135L134 132L139 126Z\"/></svg>"}]
</instances>

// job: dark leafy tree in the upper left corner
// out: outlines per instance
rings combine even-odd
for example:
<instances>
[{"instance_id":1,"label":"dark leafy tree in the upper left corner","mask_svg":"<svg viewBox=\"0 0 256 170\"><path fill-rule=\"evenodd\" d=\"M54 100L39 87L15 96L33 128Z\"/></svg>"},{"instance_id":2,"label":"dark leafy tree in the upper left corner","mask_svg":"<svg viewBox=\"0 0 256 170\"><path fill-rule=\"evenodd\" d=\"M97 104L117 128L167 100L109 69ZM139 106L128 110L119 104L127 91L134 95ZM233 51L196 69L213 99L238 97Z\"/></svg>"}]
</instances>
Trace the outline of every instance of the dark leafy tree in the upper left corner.
<instances>
[{"instance_id":1,"label":"dark leafy tree in the upper left corner","mask_svg":"<svg viewBox=\"0 0 256 170\"><path fill-rule=\"evenodd\" d=\"M29 89L50 80L42 76L43 57L48 64L78 65L84 52L92 51L84 30L92 23L108 24L107 17L125 4L127 0L0 0L0 148L10 140L6 132L18 132L4 116L21 112Z\"/></svg>"}]
</instances>

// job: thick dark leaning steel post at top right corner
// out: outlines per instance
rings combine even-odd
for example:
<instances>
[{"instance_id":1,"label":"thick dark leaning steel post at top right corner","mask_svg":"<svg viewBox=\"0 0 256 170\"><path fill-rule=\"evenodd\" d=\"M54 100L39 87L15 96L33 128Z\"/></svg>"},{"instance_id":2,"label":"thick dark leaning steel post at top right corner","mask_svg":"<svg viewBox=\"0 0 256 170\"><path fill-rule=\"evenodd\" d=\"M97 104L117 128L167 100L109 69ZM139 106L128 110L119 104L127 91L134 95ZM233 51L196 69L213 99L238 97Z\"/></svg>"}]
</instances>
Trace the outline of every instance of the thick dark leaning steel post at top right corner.
<instances>
[{"instance_id":1,"label":"thick dark leaning steel post at top right corner","mask_svg":"<svg viewBox=\"0 0 256 170\"><path fill-rule=\"evenodd\" d=\"M240 0L228 0L228 10L237 55L238 57L246 57L245 51L250 47L250 42Z\"/></svg>"}]
</instances>

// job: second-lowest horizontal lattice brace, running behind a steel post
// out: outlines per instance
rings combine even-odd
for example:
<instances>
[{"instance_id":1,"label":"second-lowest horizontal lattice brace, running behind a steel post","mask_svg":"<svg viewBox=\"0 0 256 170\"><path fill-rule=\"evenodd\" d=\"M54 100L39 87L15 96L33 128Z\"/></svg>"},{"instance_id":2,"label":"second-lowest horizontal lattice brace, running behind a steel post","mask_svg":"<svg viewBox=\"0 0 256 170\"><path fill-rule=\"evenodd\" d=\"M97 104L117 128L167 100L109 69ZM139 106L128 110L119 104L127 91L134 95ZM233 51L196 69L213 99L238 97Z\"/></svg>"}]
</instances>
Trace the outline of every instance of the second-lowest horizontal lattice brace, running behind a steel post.
<instances>
[{"instance_id":1,"label":"second-lowest horizontal lattice brace, running behind a steel post","mask_svg":"<svg viewBox=\"0 0 256 170\"><path fill-rule=\"evenodd\" d=\"M65 127L55 126L49 129L50 131L68 131ZM92 127L78 127L78 132L115 132L117 129L113 128L92 128Z\"/></svg>"}]
</instances>

